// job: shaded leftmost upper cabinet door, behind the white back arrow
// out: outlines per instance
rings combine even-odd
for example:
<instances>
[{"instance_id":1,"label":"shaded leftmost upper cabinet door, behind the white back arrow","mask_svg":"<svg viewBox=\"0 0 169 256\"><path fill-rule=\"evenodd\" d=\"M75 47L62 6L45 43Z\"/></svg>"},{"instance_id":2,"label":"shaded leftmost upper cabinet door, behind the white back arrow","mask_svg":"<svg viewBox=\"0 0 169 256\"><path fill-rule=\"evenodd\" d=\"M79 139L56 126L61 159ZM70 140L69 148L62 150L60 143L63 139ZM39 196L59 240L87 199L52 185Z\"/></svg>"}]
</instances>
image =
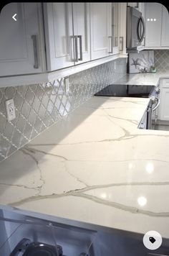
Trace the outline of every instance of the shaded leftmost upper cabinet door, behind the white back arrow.
<instances>
[{"instance_id":1,"label":"shaded leftmost upper cabinet door, behind the white back arrow","mask_svg":"<svg viewBox=\"0 0 169 256\"><path fill-rule=\"evenodd\" d=\"M10 3L1 10L0 76L42 72L39 8L37 3Z\"/></svg>"}]
</instances>

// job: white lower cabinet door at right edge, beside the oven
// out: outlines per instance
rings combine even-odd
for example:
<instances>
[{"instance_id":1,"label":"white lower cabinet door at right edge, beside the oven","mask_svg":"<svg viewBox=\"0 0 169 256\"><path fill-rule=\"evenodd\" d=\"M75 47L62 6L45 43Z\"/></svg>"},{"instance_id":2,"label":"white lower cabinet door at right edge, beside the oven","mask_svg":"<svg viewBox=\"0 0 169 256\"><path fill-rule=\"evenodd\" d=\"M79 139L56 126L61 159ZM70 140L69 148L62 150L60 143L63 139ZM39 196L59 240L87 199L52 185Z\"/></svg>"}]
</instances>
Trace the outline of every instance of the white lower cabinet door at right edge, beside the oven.
<instances>
[{"instance_id":1,"label":"white lower cabinet door at right edge, beside the oven","mask_svg":"<svg viewBox=\"0 0 169 256\"><path fill-rule=\"evenodd\" d=\"M160 91L160 120L169 121L169 88Z\"/></svg>"}]
</instances>

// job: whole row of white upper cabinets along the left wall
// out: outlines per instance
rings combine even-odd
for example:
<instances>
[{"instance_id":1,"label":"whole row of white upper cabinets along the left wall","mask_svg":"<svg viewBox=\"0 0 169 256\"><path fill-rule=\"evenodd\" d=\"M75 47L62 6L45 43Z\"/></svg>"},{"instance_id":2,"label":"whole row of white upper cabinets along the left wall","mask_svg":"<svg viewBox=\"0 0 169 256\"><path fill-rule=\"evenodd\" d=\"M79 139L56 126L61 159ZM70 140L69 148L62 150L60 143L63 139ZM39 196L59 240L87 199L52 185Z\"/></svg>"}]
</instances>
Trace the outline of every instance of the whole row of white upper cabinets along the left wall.
<instances>
[{"instance_id":1,"label":"whole row of white upper cabinets along the left wall","mask_svg":"<svg viewBox=\"0 0 169 256\"><path fill-rule=\"evenodd\" d=\"M7 4L0 16L0 76L34 74L33 79L39 79L43 73L46 79L47 71L125 53L126 6L114 2Z\"/></svg>"}]
</instances>

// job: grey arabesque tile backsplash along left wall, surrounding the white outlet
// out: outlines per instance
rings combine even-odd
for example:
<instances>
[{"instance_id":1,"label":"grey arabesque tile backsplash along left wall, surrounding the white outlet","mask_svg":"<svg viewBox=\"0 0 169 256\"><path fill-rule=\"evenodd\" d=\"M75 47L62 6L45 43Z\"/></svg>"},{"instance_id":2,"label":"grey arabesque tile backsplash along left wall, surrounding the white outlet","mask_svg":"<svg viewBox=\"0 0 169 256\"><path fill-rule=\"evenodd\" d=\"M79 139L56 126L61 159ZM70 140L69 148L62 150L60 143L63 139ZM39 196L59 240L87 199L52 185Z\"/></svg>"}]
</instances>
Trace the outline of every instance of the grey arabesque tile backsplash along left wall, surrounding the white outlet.
<instances>
[{"instance_id":1,"label":"grey arabesque tile backsplash along left wall, surrounding the white outlet","mask_svg":"<svg viewBox=\"0 0 169 256\"><path fill-rule=\"evenodd\" d=\"M116 68L115 68L116 62ZM64 79L0 88L0 161L90 99L97 91L126 73L126 59L119 58ZM5 101L14 99L16 119L6 119Z\"/></svg>"}]
</instances>

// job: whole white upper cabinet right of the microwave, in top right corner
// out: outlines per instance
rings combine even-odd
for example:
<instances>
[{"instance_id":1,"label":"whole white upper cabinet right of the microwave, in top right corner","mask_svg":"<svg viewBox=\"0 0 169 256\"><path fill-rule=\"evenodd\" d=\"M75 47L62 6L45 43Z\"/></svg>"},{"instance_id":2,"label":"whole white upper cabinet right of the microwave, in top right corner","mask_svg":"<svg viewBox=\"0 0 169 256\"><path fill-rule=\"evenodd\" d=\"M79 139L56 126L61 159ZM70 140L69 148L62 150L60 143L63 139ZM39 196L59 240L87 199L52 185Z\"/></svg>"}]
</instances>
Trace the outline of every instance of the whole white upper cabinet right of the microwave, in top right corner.
<instances>
[{"instance_id":1,"label":"whole white upper cabinet right of the microwave, in top right corner","mask_svg":"<svg viewBox=\"0 0 169 256\"><path fill-rule=\"evenodd\" d=\"M159 3L145 3L145 47L169 47L169 14Z\"/></svg>"}]
</instances>

